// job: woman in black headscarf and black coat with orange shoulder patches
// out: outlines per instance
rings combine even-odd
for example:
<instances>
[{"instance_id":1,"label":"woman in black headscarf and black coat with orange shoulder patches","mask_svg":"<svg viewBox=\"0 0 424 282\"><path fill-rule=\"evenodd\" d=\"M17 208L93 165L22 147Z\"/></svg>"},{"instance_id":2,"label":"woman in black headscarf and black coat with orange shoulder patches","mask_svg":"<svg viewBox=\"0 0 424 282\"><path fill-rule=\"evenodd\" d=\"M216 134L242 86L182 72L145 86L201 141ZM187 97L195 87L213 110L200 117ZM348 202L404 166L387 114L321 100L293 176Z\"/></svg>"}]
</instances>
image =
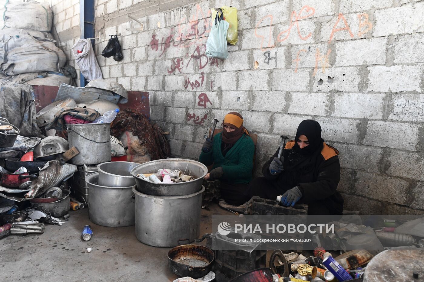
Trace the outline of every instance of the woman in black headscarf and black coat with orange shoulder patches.
<instances>
[{"instance_id":1,"label":"woman in black headscarf and black coat with orange shoulder patches","mask_svg":"<svg viewBox=\"0 0 424 282\"><path fill-rule=\"evenodd\" d=\"M285 206L309 205L308 214L343 212L343 198L336 191L340 181L338 150L321 138L321 126L314 120L302 121L295 140L287 142L281 159L279 149L262 167L264 177L249 184L246 199L281 197Z\"/></svg>"}]
</instances>

